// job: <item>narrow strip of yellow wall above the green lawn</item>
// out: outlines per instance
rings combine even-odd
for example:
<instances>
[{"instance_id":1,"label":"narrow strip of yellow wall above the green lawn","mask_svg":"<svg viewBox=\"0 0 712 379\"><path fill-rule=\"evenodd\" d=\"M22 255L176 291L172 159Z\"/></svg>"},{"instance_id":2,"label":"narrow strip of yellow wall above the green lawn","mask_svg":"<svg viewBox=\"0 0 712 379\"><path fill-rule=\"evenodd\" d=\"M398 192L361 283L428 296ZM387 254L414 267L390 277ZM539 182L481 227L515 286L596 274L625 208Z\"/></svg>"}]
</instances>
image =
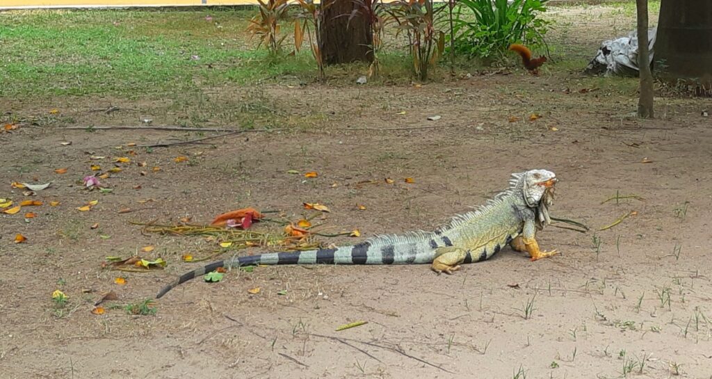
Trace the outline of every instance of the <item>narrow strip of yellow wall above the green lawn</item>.
<instances>
[{"instance_id":1,"label":"narrow strip of yellow wall above the green lawn","mask_svg":"<svg viewBox=\"0 0 712 379\"><path fill-rule=\"evenodd\" d=\"M0 0L0 9L82 6L248 5L257 0Z\"/></svg>"}]
</instances>

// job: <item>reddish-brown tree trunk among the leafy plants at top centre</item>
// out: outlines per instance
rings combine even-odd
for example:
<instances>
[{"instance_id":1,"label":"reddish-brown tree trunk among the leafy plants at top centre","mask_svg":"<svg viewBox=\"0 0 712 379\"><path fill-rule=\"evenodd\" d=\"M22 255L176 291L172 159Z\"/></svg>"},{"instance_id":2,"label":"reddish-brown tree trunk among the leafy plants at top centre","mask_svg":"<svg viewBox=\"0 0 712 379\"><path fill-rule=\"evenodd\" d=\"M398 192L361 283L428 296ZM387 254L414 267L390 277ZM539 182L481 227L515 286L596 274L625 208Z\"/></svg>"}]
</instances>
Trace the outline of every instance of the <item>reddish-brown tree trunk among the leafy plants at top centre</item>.
<instances>
[{"instance_id":1,"label":"reddish-brown tree trunk among the leafy plants at top centre","mask_svg":"<svg viewBox=\"0 0 712 379\"><path fill-rule=\"evenodd\" d=\"M360 11L360 6L352 0L323 0L322 6L324 63L333 65L373 61L371 24L364 12ZM349 20L355 9L360 12Z\"/></svg>"}]
</instances>

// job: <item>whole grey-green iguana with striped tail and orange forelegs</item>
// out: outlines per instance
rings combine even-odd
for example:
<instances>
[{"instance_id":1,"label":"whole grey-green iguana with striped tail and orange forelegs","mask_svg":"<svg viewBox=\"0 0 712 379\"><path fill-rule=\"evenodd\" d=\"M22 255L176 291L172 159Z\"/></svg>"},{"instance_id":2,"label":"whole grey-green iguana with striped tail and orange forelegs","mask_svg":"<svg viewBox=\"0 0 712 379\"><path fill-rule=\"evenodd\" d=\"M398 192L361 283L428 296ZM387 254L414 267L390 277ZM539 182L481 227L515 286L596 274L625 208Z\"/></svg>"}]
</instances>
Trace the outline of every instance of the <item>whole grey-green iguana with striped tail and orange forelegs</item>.
<instances>
[{"instance_id":1,"label":"whole grey-green iguana with striped tail and orange forelegs","mask_svg":"<svg viewBox=\"0 0 712 379\"><path fill-rule=\"evenodd\" d=\"M239 256L217 261L180 276L156 298L196 276L219 267L256 264L426 264L438 274L460 269L460 264L484 261L510 244L527 251L532 261L553 254L541 251L537 230L550 223L548 208L557 182L553 172L529 170L512 175L510 187L486 204L453 217L435 232L409 232L378 236L352 246Z\"/></svg>"}]
</instances>

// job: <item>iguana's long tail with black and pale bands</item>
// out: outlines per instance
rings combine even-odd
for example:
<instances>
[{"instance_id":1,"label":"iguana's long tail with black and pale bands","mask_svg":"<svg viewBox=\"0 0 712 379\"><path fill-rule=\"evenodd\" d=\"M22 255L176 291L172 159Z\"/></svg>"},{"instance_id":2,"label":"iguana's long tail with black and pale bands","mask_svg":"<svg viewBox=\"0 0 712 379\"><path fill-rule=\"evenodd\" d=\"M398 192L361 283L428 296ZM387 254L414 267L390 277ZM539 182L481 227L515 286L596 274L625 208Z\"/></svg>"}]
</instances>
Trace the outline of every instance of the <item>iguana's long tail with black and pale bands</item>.
<instances>
[{"instance_id":1,"label":"iguana's long tail with black and pale bands","mask_svg":"<svg viewBox=\"0 0 712 379\"><path fill-rule=\"evenodd\" d=\"M426 242L427 243L427 242ZM216 261L181 275L156 295L160 298L179 284L214 271L219 267L256 266L258 264L426 264L434 259L436 246L413 242L410 244L379 244L363 242L335 249L308 251L288 251L251 256L238 256L224 261Z\"/></svg>"}]
</instances>

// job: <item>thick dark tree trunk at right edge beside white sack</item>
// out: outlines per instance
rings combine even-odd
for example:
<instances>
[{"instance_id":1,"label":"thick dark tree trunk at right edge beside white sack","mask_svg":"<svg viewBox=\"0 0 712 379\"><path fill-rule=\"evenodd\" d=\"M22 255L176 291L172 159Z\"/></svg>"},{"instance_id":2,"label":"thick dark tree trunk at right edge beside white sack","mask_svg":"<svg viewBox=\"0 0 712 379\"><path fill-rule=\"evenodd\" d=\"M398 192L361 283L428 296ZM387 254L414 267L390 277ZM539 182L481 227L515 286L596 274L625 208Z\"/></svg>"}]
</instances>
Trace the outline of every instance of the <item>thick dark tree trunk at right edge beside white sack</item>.
<instances>
[{"instance_id":1,"label":"thick dark tree trunk at right edge beside white sack","mask_svg":"<svg viewBox=\"0 0 712 379\"><path fill-rule=\"evenodd\" d=\"M655 71L669 83L712 95L712 1L662 0Z\"/></svg>"}]
</instances>

